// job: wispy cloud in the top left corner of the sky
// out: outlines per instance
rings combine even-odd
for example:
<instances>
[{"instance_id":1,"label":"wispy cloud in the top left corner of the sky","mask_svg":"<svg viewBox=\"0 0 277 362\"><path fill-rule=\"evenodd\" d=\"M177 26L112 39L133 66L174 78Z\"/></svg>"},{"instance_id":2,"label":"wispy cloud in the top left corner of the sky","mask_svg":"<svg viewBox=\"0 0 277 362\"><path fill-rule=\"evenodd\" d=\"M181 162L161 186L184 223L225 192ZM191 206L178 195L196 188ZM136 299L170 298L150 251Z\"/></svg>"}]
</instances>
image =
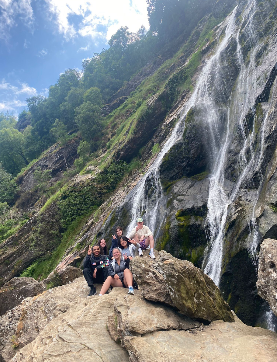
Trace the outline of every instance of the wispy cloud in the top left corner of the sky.
<instances>
[{"instance_id":1,"label":"wispy cloud in the top left corner of the sky","mask_svg":"<svg viewBox=\"0 0 277 362\"><path fill-rule=\"evenodd\" d=\"M8 41L9 30L17 26L18 19L32 29L33 9L32 0L0 0L0 39Z\"/></svg>"}]
</instances>

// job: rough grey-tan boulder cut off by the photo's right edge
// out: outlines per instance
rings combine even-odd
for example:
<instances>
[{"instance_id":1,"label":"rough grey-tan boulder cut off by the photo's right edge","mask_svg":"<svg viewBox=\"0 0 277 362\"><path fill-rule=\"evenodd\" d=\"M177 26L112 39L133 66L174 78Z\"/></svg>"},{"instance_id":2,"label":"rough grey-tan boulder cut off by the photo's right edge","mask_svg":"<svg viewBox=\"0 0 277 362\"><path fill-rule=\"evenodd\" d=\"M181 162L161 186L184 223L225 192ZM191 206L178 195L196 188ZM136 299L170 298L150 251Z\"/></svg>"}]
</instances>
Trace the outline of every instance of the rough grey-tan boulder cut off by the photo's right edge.
<instances>
[{"instance_id":1,"label":"rough grey-tan boulder cut off by the photo's right edge","mask_svg":"<svg viewBox=\"0 0 277 362\"><path fill-rule=\"evenodd\" d=\"M260 245L258 294L270 305L277 316L277 240L265 239Z\"/></svg>"}]
</instances>

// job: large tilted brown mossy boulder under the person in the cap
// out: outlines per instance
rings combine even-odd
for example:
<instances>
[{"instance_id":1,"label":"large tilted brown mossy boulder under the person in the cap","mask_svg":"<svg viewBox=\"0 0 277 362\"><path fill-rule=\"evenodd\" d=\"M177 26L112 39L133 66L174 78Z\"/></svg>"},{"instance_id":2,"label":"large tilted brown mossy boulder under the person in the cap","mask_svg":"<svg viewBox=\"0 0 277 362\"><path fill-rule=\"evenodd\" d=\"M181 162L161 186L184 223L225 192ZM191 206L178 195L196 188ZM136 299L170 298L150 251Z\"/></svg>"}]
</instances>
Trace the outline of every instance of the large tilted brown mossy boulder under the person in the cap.
<instances>
[{"instance_id":1,"label":"large tilted brown mossy boulder under the person in the cap","mask_svg":"<svg viewBox=\"0 0 277 362\"><path fill-rule=\"evenodd\" d=\"M174 305L190 318L234 321L218 287L201 269L165 251L155 251L155 256L152 260L144 253L142 259L131 261L130 269L144 298ZM157 290L163 293L157 294Z\"/></svg>"}]
</instances>

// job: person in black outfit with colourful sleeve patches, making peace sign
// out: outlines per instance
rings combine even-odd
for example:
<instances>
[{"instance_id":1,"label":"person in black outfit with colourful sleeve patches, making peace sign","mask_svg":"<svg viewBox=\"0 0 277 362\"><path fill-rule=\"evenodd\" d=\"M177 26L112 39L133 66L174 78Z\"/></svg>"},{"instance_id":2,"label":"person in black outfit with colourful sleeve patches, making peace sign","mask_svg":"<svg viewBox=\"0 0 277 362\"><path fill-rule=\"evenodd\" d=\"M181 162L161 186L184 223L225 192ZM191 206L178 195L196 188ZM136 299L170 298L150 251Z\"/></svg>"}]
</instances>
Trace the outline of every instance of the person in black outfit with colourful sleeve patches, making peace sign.
<instances>
[{"instance_id":1,"label":"person in black outfit with colourful sleeve patches, making peace sign","mask_svg":"<svg viewBox=\"0 0 277 362\"><path fill-rule=\"evenodd\" d=\"M91 288L88 296L96 294L93 283L103 283L107 279L109 264L109 257L100 254L100 247L98 245L94 245L92 248L90 245L88 246L88 254L84 260L83 270L85 280Z\"/></svg>"}]
</instances>

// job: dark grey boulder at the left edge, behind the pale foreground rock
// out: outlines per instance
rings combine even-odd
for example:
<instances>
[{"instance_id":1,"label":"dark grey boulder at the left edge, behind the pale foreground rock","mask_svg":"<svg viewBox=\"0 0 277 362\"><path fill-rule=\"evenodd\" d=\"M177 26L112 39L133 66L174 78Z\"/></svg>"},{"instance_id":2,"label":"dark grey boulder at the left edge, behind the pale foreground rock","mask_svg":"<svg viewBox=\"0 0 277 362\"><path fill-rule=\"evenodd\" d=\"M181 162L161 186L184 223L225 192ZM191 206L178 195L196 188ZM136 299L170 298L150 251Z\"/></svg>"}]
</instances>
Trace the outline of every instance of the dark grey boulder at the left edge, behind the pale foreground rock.
<instances>
[{"instance_id":1,"label":"dark grey boulder at the left edge, behind the pale foreground rock","mask_svg":"<svg viewBox=\"0 0 277 362\"><path fill-rule=\"evenodd\" d=\"M0 289L0 316L21 304L23 299L45 290L45 285L34 278L12 278Z\"/></svg>"}]
</instances>

